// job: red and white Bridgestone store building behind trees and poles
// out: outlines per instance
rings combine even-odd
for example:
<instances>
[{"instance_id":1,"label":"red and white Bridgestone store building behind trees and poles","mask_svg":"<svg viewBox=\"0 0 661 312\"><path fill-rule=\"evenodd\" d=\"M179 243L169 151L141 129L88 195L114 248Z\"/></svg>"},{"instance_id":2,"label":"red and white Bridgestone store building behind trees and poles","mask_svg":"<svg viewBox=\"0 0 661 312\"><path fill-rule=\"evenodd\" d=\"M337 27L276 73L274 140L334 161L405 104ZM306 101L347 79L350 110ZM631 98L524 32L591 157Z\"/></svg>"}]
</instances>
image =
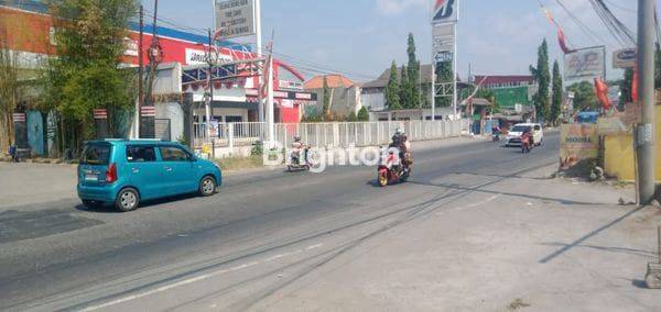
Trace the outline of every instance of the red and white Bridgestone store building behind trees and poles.
<instances>
[{"instance_id":1,"label":"red and white Bridgestone store building behind trees and poles","mask_svg":"<svg viewBox=\"0 0 661 312\"><path fill-rule=\"evenodd\" d=\"M18 3L17 3L18 2ZM2 35L6 46L20 59L24 79L32 79L36 76L36 70L43 60L48 57L56 57L56 42L54 34L53 18L47 14L47 8L42 1L10 1L0 4L0 22L2 24ZM205 94L213 90L212 116L213 120L227 122L253 122L258 121L258 81L257 75L235 77L227 79L224 76L221 66L225 63L246 60L256 57L250 46L236 44L232 42L221 42L215 47L217 53L218 67L214 69L212 86L206 83L206 73L208 68L208 37L180 31L172 27L145 25L142 40L142 46L139 46L139 25L131 24L128 35L124 38L126 51L122 58L123 66L139 66L139 51L148 51L152 42L152 33L155 32L159 43L162 47L163 56L159 73L155 78L154 94L167 96L172 93L189 93L194 107L194 123L205 125L207 123L204 101ZM149 64L147 53L143 54L143 64ZM240 66L240 65L236 65ZM174 75L174 76L173 76ZM281 62L273 60L273 89L275 104L275 122L299 122L304 110L304 105L315 104L316 94L303 91L303 81L305 77L295 68ZM28 133L30 145L37 154L44 151L44 133L54 133L54 129L44 130L42 126L42 116L39 112L32 111L32 104L29 99L24 101L19 109L28 115ZM155 107L156 126L166 125L161 131L164 138L177 140L183 135L183 123L181 119L184 113L181 108L173 103L160 103ZM90 112L91 114L91 112ZM127 118L132 118L128 114ZM131 124L133 121L128 121ZM51 124L46 122L45 124ZM32 126L33 125L33 126ZM181 126L180 126L181 125ZM54 126L54 123L53 123ZM50 125L48 125L50 127ZM136 136L137 130L129 126L128 135ZM51 137L50 137L51 138ZM46 140L52 141L52 140ZM50 149L50 148L48 148Z\"/></svg>"}]
</instances>

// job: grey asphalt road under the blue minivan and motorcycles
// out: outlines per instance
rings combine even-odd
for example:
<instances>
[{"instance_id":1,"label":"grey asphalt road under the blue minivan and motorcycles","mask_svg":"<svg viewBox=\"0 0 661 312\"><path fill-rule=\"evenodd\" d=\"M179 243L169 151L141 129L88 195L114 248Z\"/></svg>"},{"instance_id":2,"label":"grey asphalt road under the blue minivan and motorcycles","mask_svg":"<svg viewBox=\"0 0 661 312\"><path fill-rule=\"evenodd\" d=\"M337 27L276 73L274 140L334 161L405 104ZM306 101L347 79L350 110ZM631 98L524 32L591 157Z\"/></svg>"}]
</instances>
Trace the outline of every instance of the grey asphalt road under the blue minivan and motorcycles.
<instances>
[{"instance_id":1,"label":"grey asphalt road under the blue minivan and motorcycles","mask_svg":"<svg viewBox=\"0 0 661 312\"><path fill-rule=\"evenodd\" d=\"M529 155L491 142L423 145L410 182L387 188L375 186L376 168L332 167L232 175L217 196L131 213L75 198L0 210L0 310L197 310L212 298L219 310L254 308L372 237L554 164L559 137Z\"/></svg>"}]
</instances>

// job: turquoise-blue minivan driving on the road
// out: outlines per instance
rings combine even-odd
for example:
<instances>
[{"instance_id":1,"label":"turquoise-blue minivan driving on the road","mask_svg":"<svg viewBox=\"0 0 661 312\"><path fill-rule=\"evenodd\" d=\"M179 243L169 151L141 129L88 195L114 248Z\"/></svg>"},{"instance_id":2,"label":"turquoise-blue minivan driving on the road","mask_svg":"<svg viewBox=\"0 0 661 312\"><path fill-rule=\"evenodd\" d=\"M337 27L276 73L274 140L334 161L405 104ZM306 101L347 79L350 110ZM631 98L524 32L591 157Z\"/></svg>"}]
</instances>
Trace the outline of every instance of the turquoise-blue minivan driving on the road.
<instances>
[{"instance_id":1,"label":"turquoise-blue minivan driving on the road","mask_svg":"<svg viewBox=\"0 0 661 312\"><path fill-rule=\"evenodd\" d=\"M78 197L88 208L115 203L131 211L144 200L194 192L208 197L221 182L216 164L173 142L86 142L78 165Z\"/></svg>"}]
</instances>

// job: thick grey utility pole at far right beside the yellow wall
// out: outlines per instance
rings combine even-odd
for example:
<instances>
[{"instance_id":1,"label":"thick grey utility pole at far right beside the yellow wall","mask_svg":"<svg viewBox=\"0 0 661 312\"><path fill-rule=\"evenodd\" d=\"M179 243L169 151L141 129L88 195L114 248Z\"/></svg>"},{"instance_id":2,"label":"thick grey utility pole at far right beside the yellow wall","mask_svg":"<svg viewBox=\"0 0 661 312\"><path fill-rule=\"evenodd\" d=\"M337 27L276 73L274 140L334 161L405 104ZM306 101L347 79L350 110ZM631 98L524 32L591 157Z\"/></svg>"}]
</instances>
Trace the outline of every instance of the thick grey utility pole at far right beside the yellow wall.
<instances>
[{"instance_id":1,"label":"thick grey utility pole at far right beside the yellow wall","mask_svg":"<svg viewBox=\"0 0 661 312\"><path fill-rule=\"evenodd\" d=\"M654 199L654 1L638 0L638 94L641 121L637 130L640 204Z\"/></svg>"}]
</instances>

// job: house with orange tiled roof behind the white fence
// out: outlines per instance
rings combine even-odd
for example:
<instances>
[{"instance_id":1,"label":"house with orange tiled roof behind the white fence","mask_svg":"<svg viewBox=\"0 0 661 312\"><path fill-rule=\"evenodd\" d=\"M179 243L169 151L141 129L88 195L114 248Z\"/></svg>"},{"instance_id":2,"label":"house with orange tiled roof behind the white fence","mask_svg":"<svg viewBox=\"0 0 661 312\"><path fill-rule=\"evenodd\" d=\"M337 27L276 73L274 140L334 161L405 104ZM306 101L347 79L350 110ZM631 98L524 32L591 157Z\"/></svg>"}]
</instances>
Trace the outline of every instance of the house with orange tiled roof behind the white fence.
<instances>
[{"instance_id":1,"label":"house with orange tiled roof behind the white fence","mask_svg":"<svg viewBox=\"0 0 661 312\"><path fill-rule=\"evenodd\" d=\"M324 80L329 90L330 105L328 110L330 114L340 118L346 118L351 113L358 114L362 108L360 86L342 75L332 74L316 76L305 82L303 89L316 93L318 101L316 105L306 105L304 115L314 118L323 113Z\"/></svg>"}]
</instances>

